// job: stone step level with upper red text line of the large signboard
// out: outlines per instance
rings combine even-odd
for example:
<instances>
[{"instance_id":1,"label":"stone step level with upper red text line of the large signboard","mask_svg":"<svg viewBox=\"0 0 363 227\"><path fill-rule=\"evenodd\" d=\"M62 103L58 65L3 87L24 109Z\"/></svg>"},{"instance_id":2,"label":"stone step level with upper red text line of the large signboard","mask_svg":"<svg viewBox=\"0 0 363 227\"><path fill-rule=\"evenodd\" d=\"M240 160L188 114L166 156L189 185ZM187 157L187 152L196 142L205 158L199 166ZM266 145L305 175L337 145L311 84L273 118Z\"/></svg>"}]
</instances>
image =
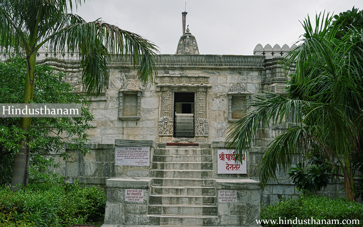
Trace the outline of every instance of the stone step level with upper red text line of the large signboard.
<instances>
[{"instance_id":1,"label":"stone step level with upper red text line of the large signboard","mask_svg":"<svg viewBox=\"0 0 363 227\"><path fill-rule=\"evenodd\" d=\"M211 155L154 155L154 162L212 162Z\"/></svg>"}]
</instances>

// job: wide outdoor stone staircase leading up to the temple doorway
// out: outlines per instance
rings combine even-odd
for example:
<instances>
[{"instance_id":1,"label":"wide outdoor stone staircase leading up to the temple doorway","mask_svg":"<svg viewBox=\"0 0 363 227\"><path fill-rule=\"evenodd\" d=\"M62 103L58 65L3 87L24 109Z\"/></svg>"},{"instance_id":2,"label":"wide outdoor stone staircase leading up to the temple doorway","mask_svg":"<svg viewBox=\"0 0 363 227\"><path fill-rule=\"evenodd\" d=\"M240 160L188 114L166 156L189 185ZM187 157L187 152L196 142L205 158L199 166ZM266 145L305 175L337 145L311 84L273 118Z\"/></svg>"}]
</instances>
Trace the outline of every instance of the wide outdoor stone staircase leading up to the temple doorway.
<instances>
[{"instance_id":1,"label":"wide outdoor stone staircase leading up to the temple doorway","mask_svg":"<svg viewBox=\"0 0 363 227\"><path fill-rule=\"evenodd\" d=\"M216 189L210 144L155 148L148 216L160 226L215 226Z\"/></svg>"}]
</instances>

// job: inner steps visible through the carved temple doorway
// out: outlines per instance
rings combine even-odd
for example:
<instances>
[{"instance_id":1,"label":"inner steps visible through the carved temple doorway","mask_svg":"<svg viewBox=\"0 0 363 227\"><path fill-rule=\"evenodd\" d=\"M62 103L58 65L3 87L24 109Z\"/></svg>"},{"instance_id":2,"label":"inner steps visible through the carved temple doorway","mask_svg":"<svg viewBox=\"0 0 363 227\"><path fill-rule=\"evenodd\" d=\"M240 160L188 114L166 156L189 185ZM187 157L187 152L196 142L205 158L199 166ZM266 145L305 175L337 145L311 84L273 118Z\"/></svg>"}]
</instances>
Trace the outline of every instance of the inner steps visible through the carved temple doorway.
<instances>
[{"instance_id":1,"label":"inner steps visible through the carved temple doorway","mask_svg":"<svg viewBox=\"0 0 363 227\"><path fill-rule=\"evenodd\" d=\"M175 113L175 137L194 138L194 114Z\"/></svg>"}]
</instances>

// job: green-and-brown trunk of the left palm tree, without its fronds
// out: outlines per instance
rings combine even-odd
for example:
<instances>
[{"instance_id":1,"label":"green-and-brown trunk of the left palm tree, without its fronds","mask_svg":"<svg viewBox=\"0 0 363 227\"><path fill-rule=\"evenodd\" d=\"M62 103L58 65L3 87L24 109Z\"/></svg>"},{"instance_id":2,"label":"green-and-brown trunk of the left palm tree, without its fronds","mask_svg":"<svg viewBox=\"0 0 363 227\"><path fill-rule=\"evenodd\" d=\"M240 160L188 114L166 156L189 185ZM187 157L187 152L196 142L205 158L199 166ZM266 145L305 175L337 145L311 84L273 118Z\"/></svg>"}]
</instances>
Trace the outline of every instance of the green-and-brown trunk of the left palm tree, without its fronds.
<instances>
[{"instance_id":1,"label":"green-and-brown trunk of the left palm tree, without its fronds","mask_svg":"<svg viewBox=\"0 0 363 227\"><path fill-rule=\"evenodd\" d=\"M29 53L26 58L26 77L25 77L25 89L23 96L23 103L29 103L33 100L33 92L34 92L34 71L36 64L36 54ZM30 156L30 147L29 147L29 132L30 125L32 123L31 117L21 117L20 118L20 128L23 129L23 133L25 134L25 139L20 140L20 152L16 153L14 156L14 166L13 166L13 176L11 180L11 190L17 191L17 185L26 185L29 183L29 156Z\"/></svg>"}]
</instances>

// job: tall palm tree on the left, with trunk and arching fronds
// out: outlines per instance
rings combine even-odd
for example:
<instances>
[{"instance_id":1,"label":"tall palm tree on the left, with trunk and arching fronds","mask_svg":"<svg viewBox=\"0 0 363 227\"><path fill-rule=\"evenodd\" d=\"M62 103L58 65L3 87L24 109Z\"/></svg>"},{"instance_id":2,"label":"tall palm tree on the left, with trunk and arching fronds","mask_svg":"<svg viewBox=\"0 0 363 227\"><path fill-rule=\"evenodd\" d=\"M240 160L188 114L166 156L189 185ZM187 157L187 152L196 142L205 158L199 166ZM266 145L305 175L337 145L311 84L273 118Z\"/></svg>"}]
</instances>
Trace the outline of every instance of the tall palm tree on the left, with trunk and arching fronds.
<instances>
[{"instance_id":1,"label":"tall palm tree on the left, with trunk and arching fronds","mask_svg":"<svg viewBox=\"0 0 363 227\"><path fill-rule=\"evenodd\" d=\"M152 81L156 74L157 46L138 34L119 29L97 19L86 22L72 14L73 6L85 0L0 0L0 46L3 53L11 49L26 56L27 71L24 103L33 99L37 51L48 45L50 51L77 53L82 82L87 95L98 95L107 76L111 55L121 55L138 67L141 82ZM70 13L67 10L70 8ZM30 117L21 118L20 128L26 139L14 159L12 189L28 183Z\"/></svg>"}]
</instances>

